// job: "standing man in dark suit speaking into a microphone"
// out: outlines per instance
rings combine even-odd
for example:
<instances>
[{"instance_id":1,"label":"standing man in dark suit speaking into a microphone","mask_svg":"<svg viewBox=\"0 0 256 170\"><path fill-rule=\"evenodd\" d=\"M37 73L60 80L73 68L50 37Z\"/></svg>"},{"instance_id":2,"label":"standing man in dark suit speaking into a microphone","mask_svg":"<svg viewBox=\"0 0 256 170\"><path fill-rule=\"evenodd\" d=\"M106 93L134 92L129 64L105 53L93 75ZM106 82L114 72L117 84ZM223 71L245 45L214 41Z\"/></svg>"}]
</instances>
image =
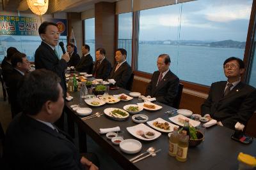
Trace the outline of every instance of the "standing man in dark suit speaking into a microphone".
<instances>
[{"instance_id":1,"label":"standing man in dark suit speaking into a microphone","mask_svg":"<svg viewBox=\"0 0 256 170\"><path fill-rule=\"evenodd\" d=\"M43 22L38 28L40 38L42 39L41 45L35 52L35 68L47 69L56 73L60 79L60 85L63 90L63 96L67 96L67 85L65 82L65 69L67 69L69 55L64 53L61 59L58 58L58 53L55 46L58 45L60 39L60 32L58 31L57 24L54 22ZM63 128L64 117L63 114L57 122L58 127Z\"/></svg>"}]
</instances>

